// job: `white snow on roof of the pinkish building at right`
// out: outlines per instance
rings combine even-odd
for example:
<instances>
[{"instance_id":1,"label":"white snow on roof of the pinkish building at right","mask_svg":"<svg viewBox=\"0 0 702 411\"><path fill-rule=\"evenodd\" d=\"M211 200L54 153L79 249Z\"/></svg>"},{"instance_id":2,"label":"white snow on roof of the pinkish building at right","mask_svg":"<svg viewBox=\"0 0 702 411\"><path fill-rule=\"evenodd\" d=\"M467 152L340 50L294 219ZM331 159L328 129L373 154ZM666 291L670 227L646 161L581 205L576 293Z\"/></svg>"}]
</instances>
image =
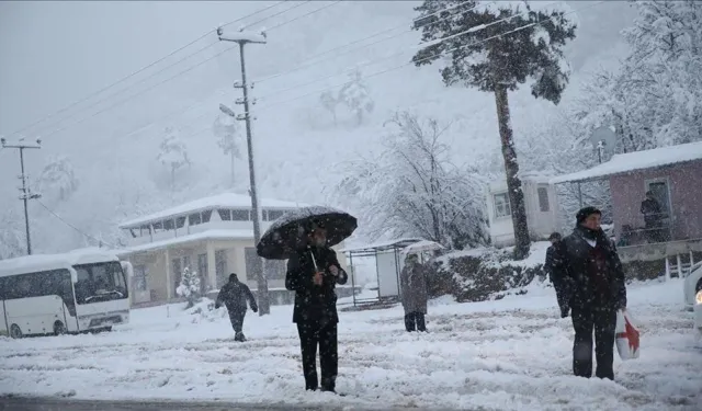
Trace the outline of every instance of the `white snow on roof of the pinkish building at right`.
<instances>
[{"instance_id":1,"label":"white snow on roof of the pinkish building at right","mask_svg":"<svg viewBox=\"0 0 702 411\"><path fill-rule=\"evenodd\" d=\"M559 184L598 180L609 175L623 174L636 170L653 169L694 160L702 160L702 141L627 152L624 155L614 155L608 162L603 162L588 170L559 175L552 179L551 183Z\"/></svg>"}]
</instances>

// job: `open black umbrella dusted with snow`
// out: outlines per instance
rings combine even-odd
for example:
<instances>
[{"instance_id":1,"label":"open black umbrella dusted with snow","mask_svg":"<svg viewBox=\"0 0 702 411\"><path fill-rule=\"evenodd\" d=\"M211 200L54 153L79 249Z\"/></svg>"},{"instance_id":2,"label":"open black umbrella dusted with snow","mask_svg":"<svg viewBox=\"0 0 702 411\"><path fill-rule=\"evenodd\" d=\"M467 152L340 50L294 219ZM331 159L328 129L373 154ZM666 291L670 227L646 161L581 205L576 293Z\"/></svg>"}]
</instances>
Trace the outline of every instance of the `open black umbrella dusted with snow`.
<instances>
[{"instance_id":1,"label":"open black umbrella dusted with snow","mask_svg":"<svg viewBox=\"0 0 702 411\"><path fill-rule=\"evenodd\" d=\"M287 260L305 246L306 235L314 224L327 230L327 246L333 247L353 233L356 219L331 207L303 207L285 213L271 224L256 244L256 252L268 260Z\"/></svg>"}]
</instances>

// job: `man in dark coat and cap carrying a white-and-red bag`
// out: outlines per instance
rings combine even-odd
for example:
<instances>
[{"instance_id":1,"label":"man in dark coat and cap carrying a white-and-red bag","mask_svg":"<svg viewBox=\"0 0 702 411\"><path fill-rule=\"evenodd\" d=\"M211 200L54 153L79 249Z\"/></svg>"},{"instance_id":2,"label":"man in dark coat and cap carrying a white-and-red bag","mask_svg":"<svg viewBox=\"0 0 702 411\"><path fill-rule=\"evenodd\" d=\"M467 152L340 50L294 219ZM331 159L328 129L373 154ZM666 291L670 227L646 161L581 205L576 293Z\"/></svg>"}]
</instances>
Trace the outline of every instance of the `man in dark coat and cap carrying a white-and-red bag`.
<instances>
[{"instance_id":1,"label":"man in dark coat and cap carrying a white-and-red bag","mask_svg":"<svg viewBox=\"0 0 702 411\"><path fill-rule=\"evenodd\" d=\"M565 310L571 310L575 342L573 372L592 376L592 330L599 378L614 379L616 311L626 308L624 270L612 241L600 227L601 212L585 207L573 233L561 241L558 270L564 278Z\"/></svg>"}]
</instances>

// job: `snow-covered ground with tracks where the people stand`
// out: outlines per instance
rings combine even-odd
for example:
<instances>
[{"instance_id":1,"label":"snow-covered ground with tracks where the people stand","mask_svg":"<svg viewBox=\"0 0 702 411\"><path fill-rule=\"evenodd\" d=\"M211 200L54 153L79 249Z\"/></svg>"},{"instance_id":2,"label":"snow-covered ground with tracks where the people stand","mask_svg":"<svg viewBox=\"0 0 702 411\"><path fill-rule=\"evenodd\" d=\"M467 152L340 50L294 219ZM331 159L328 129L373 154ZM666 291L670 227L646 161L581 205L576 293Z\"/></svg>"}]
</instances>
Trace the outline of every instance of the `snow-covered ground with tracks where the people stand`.
<instances>
[{"instance_id":1,"label":"snow-covered ground with tracks where the people stand","mask_svg":"<svg viewBox=\"0 0 702 411\"><path fill-rule=\"evenodd\" d=\"M0 393L307 406L480 410L700 410L702 342L682 283L630 287L641 358L616 381L570 374L570 319L534 287L498 301L432 301L430 333L406 333L401 309L341 312L338 390L305 392L292 307L248 316L236 343L223 312L134 310L112 333L0 340Z\"/></svg>"}]
</instances>

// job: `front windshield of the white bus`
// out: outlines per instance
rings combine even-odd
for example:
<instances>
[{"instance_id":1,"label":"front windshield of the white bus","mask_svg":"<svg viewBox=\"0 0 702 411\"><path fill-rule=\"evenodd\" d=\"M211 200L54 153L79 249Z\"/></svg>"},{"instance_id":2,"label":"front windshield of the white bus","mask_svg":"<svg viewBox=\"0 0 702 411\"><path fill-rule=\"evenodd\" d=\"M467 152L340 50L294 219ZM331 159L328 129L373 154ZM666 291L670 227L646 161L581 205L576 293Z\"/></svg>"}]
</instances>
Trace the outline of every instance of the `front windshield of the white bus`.
<instances>
[{"instance_id":1,"label":"front windshield of the white bus","mask_svg":"<svg viewBox=\"0 0 702 411\"><path fill-rule=\"evenodd\" d=\"M73 269L78 273L76 283L78 304L128 298L126 279L120 262L76 265Z\"/></svg>"}]
</instances>

